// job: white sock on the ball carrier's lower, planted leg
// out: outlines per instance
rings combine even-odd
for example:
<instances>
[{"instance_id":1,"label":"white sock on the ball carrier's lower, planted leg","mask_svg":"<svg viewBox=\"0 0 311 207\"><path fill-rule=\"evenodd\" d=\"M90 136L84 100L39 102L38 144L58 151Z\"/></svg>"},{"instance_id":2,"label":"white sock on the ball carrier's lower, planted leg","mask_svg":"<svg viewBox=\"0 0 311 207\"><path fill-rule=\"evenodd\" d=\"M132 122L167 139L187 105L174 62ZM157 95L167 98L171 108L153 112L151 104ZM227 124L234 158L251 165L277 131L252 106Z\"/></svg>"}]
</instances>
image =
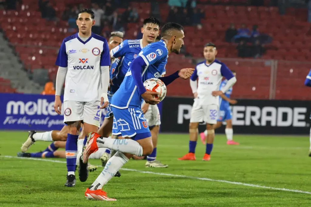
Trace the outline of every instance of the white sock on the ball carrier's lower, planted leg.
<instances>
[{"instance_id":1,"label":"white sock on the ball carrier's lower, planted leg","mask_svg":"<svg viewBox=\"0 0 311 207\"><path fill-rule=\"evenodd\" d=\"M122 166L127 162L128 158L122 152L118 151L108 160L103 171L96 178L89 189L91 191L102 189L103 185L105 185L112 177L114 177L117 171L121 169Z\"/></svg>"}]
</instances>

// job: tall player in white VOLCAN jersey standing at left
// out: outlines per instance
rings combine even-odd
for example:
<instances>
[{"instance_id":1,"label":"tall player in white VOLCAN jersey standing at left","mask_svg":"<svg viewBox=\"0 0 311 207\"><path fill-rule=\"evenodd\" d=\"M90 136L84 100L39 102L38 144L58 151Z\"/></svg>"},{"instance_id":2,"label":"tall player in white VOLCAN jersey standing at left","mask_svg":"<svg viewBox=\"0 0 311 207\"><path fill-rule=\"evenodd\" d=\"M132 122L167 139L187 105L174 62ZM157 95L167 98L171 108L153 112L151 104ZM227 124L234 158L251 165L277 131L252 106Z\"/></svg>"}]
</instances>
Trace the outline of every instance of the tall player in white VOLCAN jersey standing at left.
<instances>
[{"instance_id":1,"label":"tall player in white VOLCAN jersey standing at left","mask_svg":"<svg viewBox=\"0 0 311 207\"><path fill-rule=\"evenodd\" d=\"M94 12L82 9L77 16L79 32L63 40L56 65L56 93L54 109L61 114L61 89L65 81L64 122L68 125L66 142L67 181L65 186L76 184L77 132L81 123L86 134L100 127L101 109L108 106L109 48L107 40L91 32L95 24ZM87 163L80 162L79 178L87 178Z\"/></svg>"}]
</instances>

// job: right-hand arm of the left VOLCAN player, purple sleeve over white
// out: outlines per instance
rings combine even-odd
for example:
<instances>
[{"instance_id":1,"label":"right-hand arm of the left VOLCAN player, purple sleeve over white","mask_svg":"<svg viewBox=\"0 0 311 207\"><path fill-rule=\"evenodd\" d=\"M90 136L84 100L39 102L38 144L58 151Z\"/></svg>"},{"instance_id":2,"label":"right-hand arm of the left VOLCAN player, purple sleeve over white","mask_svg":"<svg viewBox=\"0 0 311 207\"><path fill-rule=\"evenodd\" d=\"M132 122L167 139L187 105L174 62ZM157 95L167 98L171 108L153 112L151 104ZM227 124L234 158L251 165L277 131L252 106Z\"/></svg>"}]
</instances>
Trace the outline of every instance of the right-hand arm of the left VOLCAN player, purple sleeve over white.
<instances>
[{"instance_id":1,"label":"right-hand arm of the left VOLCAN player, purple sleeve over white","mask_svg":"<svg viewBox=\"0 0 311 207\"><path fill-rule=\"evenodd\" d=\"M101 70L101 96L100 96L100 105L101 109L106 108L109 104L108 101L108 87L110 82L110 75L109 75L109 66L110 66L110 56L109 56L109 47L107 42L104 42L104 51L100 57L100 70ZM104 104L104 105L103 105Z\"/></svg>"}]
</instances>

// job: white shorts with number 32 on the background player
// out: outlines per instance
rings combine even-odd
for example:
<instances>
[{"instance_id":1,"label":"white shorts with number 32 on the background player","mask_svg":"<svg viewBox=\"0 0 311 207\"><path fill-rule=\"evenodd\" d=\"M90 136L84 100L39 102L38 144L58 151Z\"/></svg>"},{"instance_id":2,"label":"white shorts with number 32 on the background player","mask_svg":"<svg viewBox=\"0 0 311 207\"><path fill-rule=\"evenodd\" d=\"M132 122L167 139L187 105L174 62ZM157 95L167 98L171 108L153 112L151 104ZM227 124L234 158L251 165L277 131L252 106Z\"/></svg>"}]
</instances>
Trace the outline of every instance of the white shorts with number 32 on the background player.
<instances>
[{"instance_id":1,"label":"white shorts with number 32 on the background player","mask_svg":"<svg viewBox=\"0 0 311 207\"><path fill-rule=\"evenodd\" d=\"M191 110L190 123L198 123L205 121L207 124L217 123L218 105L201 105L196 98Z\"/></svg>"}]
</instances>

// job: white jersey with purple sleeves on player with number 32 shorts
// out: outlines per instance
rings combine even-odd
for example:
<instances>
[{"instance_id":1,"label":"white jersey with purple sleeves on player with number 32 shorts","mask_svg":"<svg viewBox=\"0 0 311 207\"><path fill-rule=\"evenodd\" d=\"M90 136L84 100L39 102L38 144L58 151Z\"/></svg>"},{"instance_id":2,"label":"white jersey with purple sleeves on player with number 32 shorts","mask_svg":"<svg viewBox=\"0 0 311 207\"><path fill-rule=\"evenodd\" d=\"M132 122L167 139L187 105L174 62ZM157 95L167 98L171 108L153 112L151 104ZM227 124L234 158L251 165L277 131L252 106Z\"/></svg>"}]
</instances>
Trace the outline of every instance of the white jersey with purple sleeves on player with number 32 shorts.
<instances>
[{"instance_id":1,"label":"white jersey with purple sleeves on player with number 32 shorts","mask_svg":"<svg viewBox=\"0 0 311 207\"><path fill-rule=\"evenodd\" d=\"M201 105L219 105L219 97L212 96L212 92L219 90L223 77L226 79L233 77L232 72L224 63L215 60L210 65L207 65L206 61L197 64L191 80L198 79L197 94Z\"/></svg>"}]
</instances>

